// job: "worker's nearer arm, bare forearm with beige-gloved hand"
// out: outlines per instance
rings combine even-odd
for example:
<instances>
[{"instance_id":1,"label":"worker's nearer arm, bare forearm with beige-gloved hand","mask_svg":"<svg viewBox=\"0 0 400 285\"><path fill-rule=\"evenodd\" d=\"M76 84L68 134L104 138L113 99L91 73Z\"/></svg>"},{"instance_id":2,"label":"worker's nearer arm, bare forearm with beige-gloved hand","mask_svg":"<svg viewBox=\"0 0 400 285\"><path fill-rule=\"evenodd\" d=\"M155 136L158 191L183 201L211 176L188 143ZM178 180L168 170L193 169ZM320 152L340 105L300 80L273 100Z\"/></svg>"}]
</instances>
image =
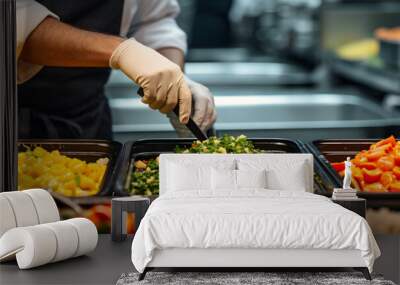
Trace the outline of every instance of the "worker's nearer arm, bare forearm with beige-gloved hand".
<instances>
[{"instance_id":1,"label":"worker's nearer arm, bare forearm with beige-gloved hand","mask_svg":"<svg viewBox=\"0 0 400 285\"><path fill-rule=\"evenodd\" d=\"M100 34L46 18L25 42L20 59L46 66L120 69L144 91L142 101L168 113L179 104L179 120L190 117L192 96L180 67L135 39Z\"/></svg>"}]
</instances>

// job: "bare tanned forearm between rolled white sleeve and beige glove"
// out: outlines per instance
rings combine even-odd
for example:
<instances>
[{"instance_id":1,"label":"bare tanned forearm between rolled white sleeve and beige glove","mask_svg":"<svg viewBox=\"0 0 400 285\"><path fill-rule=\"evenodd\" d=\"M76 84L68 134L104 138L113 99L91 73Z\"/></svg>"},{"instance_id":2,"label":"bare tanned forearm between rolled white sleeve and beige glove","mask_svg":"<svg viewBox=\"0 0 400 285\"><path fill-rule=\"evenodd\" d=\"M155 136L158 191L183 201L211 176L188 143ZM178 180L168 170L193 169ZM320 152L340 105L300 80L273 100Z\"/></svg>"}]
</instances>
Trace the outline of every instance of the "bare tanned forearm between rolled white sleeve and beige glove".
<instances>
[{"instance_id":1,"label":"bare tanned forearm between rolled white sleeve and beige glove","mask_svg":"<svg viewBox=\"0 0 400 285\"><path fill-rule=\"evenodd\" d=\"M46 66L108 67L111 54L122 41L47 17L25 41L20 59Z\"/></svg>"}]
</instances>

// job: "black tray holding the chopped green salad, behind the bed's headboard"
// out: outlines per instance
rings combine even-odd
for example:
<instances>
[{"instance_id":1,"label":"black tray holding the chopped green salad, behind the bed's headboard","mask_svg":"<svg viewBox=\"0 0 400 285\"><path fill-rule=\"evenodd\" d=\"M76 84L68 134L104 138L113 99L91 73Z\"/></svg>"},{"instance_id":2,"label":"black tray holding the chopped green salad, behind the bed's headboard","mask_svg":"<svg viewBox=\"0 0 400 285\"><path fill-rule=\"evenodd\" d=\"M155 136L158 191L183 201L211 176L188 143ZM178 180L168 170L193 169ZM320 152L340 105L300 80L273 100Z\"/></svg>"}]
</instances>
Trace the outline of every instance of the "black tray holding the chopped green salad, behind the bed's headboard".
<instances>
[{"instance_id":1,"label":"black tray holding the chopped green salad, behind the bed's headboard","mask_svg":"<svg viewBox=\"0 0 400 285\"><path fill-rule=\"evenodd\" d=\"M156 158L161 153L173 153L175 148L188 148L193 143L193 139L154 139L138 140L128 142L124 145L121 167L116 179L114 192L118 196L129 195L128 189L131 183L131 174L135 170L134 162L142 159ZM257 149L267 153L305 153L309 152L306 146L300 141L286 139L267 139L249 138ZM330 181L330 176L326 175L320 164L314 160L314 191L322 195L329 195L329 189L334 184ZM155 197L151 197L155 198Z\"/></svg>"}]
</instances>

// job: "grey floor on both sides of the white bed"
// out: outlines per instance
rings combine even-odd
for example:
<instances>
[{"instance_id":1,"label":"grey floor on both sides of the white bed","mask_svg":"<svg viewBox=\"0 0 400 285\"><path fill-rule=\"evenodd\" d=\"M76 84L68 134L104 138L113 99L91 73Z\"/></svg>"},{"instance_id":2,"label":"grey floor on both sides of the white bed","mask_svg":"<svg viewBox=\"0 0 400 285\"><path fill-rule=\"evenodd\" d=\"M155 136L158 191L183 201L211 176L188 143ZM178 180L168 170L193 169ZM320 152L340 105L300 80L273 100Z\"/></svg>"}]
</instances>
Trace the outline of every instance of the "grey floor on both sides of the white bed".
<instances>
[{"instance_id":1,"label":"grey floor on both sides of the white bed","mask_svg":"<svg viewBox=\"0 0 400 285\"><path fill-rule=\"evenodd\" d=\"M375 272L400 282L400 236L377 236L382 257ZM115 284L124 272L134 270L130 259L132 239L121 243L100 235L99 244L88 256L53 263L30 270L19 270L15 262L0 265L0 284Z\"/></svg>"}]
</instances>

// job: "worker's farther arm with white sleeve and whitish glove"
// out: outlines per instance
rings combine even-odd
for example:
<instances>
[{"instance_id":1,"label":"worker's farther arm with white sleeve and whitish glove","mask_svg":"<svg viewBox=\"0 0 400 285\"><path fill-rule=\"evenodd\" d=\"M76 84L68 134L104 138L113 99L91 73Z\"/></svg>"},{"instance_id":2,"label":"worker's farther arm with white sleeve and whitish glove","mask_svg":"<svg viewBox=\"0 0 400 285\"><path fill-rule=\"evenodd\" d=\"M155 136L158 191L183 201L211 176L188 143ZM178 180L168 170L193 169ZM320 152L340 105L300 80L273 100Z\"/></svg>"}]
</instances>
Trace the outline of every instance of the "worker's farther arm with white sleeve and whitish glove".
<instances>
[{"instance_id":1,"label":"worker's farther arm with white sleeve and whitish glove","mask_svg":"<svg viewBox=\"0 0 400 285\"><path fill-rule=\"evenodd\" d=\"M184 68L186 52L186 35L177 25L175 18L179 14L176 0L137 0L134 17L127 36L133 36L139 42L152 47L169 60ZM193 120L203 129L208 130L214 124L217 113L214 98L210 90L187 77L185 81L193 97ZM180 137L188 137L190 133L182 126L173 113L169 113L171 124Z\"/></svg>"}]
</instances>

